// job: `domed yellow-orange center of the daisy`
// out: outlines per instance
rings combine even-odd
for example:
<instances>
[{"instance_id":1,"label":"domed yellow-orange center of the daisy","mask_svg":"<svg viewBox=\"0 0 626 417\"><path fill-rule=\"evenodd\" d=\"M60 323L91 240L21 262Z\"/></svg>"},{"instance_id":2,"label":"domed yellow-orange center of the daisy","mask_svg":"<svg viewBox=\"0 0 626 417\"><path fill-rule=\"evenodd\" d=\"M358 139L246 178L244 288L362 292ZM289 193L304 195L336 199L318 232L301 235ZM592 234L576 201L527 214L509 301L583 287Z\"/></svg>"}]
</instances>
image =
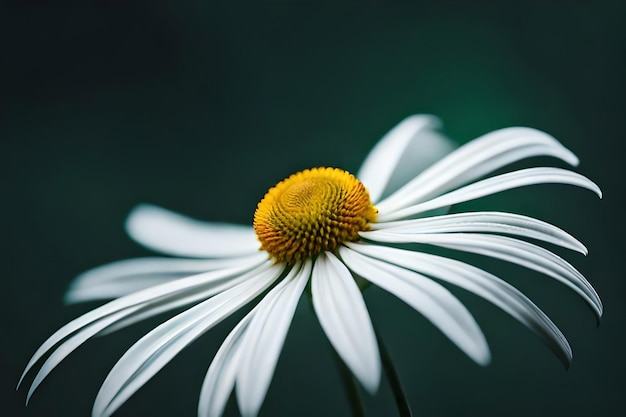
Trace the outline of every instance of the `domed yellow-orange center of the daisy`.
<instances>
[{"instance_id":1,"label":"domed yellow-orange center of the daisy","mask_svg":"<svg viewBox=\"0 0 626 417\"><path fill-rule=\"evenodd\" d=\"M376 214L367 189L352 174L313 168L270 188L254 213L254 231L261 249L293 264L357 240Z\"/></svg>"}]
</instances>

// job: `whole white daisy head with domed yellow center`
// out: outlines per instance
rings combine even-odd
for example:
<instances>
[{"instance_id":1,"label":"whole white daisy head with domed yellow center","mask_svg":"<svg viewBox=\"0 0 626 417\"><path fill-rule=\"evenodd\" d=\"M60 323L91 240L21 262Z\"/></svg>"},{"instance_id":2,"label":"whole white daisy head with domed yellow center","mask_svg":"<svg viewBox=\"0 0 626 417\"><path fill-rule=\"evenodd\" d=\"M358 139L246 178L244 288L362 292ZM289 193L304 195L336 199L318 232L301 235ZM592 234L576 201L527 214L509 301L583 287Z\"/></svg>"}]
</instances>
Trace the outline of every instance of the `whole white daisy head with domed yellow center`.
<instances>
[{"instance_id":1,"label":"whole white daisy head with domed yellow center","mask_svg":"<svg viewBox=\"0 0 626 417\"><path fill-rule=\"evenodd\" d=\"M172 257L115 262L79 276L68 301L113 300L66 324L41 345L22 375L39 365L28 399L91 337L186 308L140 338L111 369L93 406L94 417L109 416L183 348L251 304L208 368L198 415L222 414L234 389L242 415L254 416L307 286L337 355L372 394L381 379L381 356L363 283L409 304L480 365L490 361L485 337L442 283L498 306L569 364L567 340L524 294L489 272L424 248L476 253L538 271L578 293L599 318L602 303L591 284L537 244L586 254L574 237L519 214L448 214L448 209L533 184L569 184L601 196L600 189L582 175L554 167L493 174L534 156L577 165L578 158L546 133L501 129L453 150L437 132L438 124L432 116L405 119L376 145L356 176L337 168L291 175L265 194L252 227L205 223L151 205L136 207L126 224L130 236Z\"/></svg>"}]
</instances>

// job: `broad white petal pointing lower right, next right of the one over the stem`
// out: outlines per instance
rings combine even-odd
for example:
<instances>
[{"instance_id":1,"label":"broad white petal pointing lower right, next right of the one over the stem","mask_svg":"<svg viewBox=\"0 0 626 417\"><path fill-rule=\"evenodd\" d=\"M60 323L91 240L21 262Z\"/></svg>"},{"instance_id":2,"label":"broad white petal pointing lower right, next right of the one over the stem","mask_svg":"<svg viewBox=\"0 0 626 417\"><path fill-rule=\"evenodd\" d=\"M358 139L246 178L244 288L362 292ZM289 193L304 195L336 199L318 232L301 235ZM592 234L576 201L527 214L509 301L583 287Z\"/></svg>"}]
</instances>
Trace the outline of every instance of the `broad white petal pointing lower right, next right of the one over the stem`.
<instances>
[{"instance_id":1,"label":"broad white petal pointing lower right, next right of the one over the stem","mask_svg":"<svg viewBox=\"0 0 626 417\"><path fill-rule=\"evenodd\" d=\"M364 256L345 246L339 253L348 268L409 304L476 363L487 365L491 361L483 332L450 291L417 272Z\"/></svg>"}]
</instances>

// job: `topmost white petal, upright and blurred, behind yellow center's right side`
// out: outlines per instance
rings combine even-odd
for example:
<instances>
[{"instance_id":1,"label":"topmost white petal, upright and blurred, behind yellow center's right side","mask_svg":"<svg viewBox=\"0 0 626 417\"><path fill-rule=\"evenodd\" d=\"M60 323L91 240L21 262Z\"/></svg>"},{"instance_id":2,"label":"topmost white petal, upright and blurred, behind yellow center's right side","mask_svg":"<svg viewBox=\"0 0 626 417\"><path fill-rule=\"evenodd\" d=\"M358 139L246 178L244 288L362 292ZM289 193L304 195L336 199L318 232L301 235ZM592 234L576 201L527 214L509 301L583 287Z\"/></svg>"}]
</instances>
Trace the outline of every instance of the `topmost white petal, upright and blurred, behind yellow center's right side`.
<instances>
[{"instance_id":1,"label":"topmost white petal, upright and blurred, behind yellow center's right side","mask_svg":"<svg viewBox=\"0 0 626 417\"><path fill-rule=\"evenodd\" d=\"M435 116L409 116L374 146L357 174L373 202L454 149L452 142L434 131L440 124Z\"/></svg>"}]
</instances>

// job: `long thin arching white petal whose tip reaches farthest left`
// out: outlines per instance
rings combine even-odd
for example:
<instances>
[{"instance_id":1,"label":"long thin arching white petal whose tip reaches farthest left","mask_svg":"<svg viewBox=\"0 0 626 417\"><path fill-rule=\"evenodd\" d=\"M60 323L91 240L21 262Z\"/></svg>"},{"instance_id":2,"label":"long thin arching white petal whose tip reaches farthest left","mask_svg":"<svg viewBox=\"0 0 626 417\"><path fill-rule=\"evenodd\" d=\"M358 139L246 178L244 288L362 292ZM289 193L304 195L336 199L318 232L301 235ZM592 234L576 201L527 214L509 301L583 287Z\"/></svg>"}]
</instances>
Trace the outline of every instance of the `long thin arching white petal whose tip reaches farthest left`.
<instances>
[{"instance_id":1,"label":"long thin arching white petal whose tip reaches farthest left","mask_svg":"<svg viewBox=\"0 0 626 417\"><path fill-rule=\"evenodd\" d=\"M255 267L259 267L263 263L270 264L271 261L264 260L263 257L259 257L248 262L242 263L237 267L228 268L220 271L212 271L205 274L199 274L187 278L182 278L173 282L151 287L143 291L127 295L122 298L110 301L109 303L100 306L90 312L83 314L82 316L72 320L65 326L57 330L52 336L50 336L32 356L22 376L18 382L18 387L22 380L28 373L28 371L41 359L46 353L53 349L58 343L69 337L73 333L80 331L84 327L94 323L98 320L104 319L112 314L125 311L128 314L120 314L119 319L132 314L134 309L130 309L135 306L146 307L150 304L158 304L164 299L175 298L178 294L185 291L193 290L198 287L202 287L205 290L210 289L211 286L220 286L225 282L228 282L237 276L245 273L247 270L254 270Z\"/></svg>"}]
</instances>

